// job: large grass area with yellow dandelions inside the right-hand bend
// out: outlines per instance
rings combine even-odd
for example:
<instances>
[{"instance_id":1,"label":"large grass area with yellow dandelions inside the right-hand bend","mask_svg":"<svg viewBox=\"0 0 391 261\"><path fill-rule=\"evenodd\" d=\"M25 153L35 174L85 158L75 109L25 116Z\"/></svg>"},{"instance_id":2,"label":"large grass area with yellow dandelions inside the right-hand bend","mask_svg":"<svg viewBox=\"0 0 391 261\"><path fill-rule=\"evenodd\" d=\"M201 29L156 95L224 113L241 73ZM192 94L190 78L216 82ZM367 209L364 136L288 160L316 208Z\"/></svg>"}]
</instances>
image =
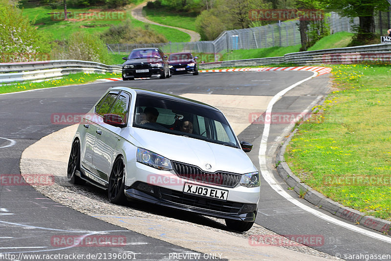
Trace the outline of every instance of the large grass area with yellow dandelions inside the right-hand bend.
<instances>
[{"instance_id":1,"label":"large grass area with yellow dandelions inside the right-hand bend","mask_svg":"<svg viewBox=\"0 0 391 261\"><path fill-rule=\"evenodd\" d=\"M335 90L317 106L315 119L300 125L285 159L307 185L327 197L391 220L390 65L332 67ZM349 182L382 176L388 181L373 186Z\"/></svg>"}]
</instances>

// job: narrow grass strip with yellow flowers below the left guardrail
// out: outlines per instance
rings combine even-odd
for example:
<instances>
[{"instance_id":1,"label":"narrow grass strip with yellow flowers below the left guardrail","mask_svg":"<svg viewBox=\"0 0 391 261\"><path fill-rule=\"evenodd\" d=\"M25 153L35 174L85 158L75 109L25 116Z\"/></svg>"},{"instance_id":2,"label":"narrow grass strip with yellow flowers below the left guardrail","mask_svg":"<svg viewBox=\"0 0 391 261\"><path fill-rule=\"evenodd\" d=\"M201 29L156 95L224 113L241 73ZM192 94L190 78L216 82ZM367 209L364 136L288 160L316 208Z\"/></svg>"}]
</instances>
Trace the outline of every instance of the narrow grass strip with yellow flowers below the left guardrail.
<instances>
[{"instance_id":1,"label":"narrow grass strip with yellow flowers below the left guardrail","mask_svg":"<svg viewBox=\"0 0 391 261\"><path fill-rule=\"evenodd\" d=\"M76 84L84 84L88 82L93 82L97 79L111 78L111 77L121 77L121 74L116 73L106 73L106 74L97 74L97 73L74 73L63 76L61 79L56 80L47 80L43 82L21 82L21 83L13 83L13 84L2 84L0 85L0 94L5 93L14 93L35 89L43 89L64 85L76 85Z\"/></svg>"}]
</instances>

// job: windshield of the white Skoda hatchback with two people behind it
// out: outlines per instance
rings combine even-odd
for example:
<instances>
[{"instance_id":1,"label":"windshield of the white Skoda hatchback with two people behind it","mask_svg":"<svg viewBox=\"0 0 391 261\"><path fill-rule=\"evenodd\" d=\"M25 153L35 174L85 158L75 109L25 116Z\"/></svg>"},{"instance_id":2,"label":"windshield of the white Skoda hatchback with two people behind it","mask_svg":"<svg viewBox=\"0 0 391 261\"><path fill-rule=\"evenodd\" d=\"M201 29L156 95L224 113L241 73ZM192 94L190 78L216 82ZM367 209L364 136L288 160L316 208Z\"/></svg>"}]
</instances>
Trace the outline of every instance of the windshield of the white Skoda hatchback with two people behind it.
<instances>
[{"instance_id":1,"label":"windshield of the white Skoda hatchback with two people behind it","mask_svg":"<svg viewBox=\"0 0 391 261\"><path fill-rule=\"evenodd\" d=\"M137 95L133 127L240 148L221 112L186 102Z\"/></svg>"}]
</instances>

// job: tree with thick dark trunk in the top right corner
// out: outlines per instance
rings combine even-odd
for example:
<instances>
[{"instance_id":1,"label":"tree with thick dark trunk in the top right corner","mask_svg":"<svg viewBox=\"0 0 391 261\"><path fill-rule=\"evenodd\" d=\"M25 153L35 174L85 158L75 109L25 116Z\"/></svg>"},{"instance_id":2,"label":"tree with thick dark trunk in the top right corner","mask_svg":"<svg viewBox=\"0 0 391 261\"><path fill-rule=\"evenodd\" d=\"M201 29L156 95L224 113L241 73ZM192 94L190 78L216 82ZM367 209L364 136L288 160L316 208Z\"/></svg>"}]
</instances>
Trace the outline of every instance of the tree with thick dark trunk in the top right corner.
<instances>
[{"instance_id":1,"label":"tree with thick dark trunk in the top right corner","mask_svg":"<svg viewBox=\"0 0 391 261\"><path fill-rule=\"evenodd\" d=\"M338 9L342 16L353 19L359 18L357 40L366 41L372 39L375 34L376 11L388 11L390 4L387 0L326 0L329 8Z\"/></svg>"}]
</instances>

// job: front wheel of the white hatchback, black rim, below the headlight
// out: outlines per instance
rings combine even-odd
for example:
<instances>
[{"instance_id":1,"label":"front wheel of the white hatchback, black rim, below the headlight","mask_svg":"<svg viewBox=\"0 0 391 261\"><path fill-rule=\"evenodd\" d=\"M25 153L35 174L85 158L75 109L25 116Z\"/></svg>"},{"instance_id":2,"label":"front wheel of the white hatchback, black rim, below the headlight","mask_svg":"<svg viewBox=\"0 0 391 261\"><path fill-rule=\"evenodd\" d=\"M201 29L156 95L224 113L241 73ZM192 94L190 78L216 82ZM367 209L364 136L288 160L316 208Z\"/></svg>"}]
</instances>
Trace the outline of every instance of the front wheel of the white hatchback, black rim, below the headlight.
<instances>
[{"instance_id":1,"label":"front wheel of the white hatchback, black rim, below the headlight","mask_svg":"<svg viewBox=\"0 0 391 261\"><path fill-rule=\"evenodd\" d=\"M124 187L125 165L124 157L121 156L115 160L109 177L108 196L111 203L124 204L126 202Z\"/></svg>"}]
</instances>

